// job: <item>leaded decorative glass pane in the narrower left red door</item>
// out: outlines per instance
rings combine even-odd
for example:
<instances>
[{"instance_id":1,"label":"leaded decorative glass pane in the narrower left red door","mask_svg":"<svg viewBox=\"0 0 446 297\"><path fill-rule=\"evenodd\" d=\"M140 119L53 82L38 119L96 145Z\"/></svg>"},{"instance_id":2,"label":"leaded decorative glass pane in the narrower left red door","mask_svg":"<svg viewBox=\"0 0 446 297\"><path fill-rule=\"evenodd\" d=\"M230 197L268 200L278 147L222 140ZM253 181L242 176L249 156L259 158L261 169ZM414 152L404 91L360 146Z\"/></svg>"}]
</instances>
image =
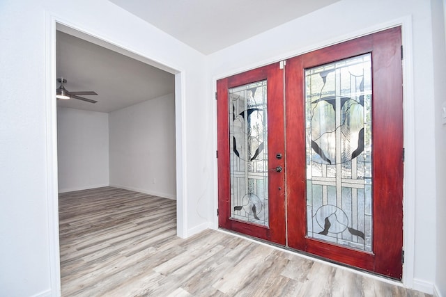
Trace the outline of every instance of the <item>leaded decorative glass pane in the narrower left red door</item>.
<instances>
[{"instance_id":1,"label":"leaded decorative glass pane in the narrower left red door","mask_svg":"<svg viewBox=\"0 0 446 297\"><path fill-rule=\"evenodd\" d=\"M229 89L231 218L268 227L266 81Z\"/></svg>"}]
</instances>

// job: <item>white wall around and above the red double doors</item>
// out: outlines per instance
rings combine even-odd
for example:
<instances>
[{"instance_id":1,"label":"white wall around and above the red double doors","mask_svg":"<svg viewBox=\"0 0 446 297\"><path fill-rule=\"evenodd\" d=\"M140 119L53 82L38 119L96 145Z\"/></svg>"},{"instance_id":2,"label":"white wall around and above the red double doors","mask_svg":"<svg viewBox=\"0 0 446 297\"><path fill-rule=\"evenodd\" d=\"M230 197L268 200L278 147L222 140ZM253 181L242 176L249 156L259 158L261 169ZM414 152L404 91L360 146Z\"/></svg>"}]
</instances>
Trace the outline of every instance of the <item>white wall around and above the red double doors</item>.
<instances>
[{"instance_id":1,"label":"white wall around and above the red double doors","mask_svg":"<svg viewBox=\"0 0 446 297\"><path fill-rule=\"evenodd\" d=\"M404 226L406 275L403 278L406 286L431 293L436 280L436 230L439 228L439 232L444 234L445 225L436 224L437 194L433 170L437 163L433 152L433 147L436 147L436 126L432 116L436 111L433 94L433 65L436 61L432 58L429 1L342 0L211 54L208 56L208 71L214 79L212 87L215 90L216 79L401 22L407 25L403 26L403 42L406 42L406 59L409 59L403 64L405 69L413 67L414 70L413 73L406 72L406 83L413 80L413 89L409 86L405 88L408 92L405 100L410 100L405 102L405 106L412 104L415 110L405 111L405 124L409 124L405 127L406 183L408 177L415 178L408 185L413 191L406 191L404 201L406 210L409 210L405 216L410 218L405 218L408 224ZM413 54L413 59L410 54ZM208 97L211 95L212 91ZM415 128L411 129L410 125ZM415 138L415 145L408 141L412 138ZM441 149L444 154L444 147ZM438 178L445 180L444 171L437 177L440 180ZM215 191L214 197L216 195ZM213 203L217 204L217 198Z\"/></svg>"}]
</instances>

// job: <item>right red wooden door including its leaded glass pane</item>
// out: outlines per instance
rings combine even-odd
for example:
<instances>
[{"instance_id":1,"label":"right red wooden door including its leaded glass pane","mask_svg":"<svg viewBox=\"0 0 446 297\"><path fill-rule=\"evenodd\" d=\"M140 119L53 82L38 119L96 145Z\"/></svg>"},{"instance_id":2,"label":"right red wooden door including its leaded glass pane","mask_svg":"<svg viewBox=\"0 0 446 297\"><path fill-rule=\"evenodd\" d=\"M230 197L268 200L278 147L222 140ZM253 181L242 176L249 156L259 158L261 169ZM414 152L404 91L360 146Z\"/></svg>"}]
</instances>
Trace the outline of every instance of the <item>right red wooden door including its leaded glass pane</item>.
<instances>
[{"instance_id":1,"label":"right red wooden door including its leaded glass pane","mask_svg":"<svg viewBox=\"0 0 446 297\"><path fill-rule=\"evenodd\" d=\"M289 247L401 279L401 28L291 58L285 86Z\"/></svg>"}]
</instances>

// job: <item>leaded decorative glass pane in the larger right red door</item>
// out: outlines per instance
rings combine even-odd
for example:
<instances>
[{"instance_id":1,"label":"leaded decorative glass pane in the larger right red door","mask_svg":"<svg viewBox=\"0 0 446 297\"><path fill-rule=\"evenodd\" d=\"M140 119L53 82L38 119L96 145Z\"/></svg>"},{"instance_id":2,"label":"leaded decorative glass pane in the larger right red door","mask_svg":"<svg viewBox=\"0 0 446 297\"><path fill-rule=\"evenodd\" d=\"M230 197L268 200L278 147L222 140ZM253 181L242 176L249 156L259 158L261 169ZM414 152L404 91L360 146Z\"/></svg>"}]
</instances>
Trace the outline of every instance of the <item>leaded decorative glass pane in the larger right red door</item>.
<instances>
[{"instance_id":1,"label":"leaded decorative glass pane in the larger right red door","mask_svg":"<svg viewBox=\"0 0 446 297\"><path fill-rule=\"evenodd\" d=\"M371 54L305 70L307 236L372 251Z\"/></svg>"}]
</instances>

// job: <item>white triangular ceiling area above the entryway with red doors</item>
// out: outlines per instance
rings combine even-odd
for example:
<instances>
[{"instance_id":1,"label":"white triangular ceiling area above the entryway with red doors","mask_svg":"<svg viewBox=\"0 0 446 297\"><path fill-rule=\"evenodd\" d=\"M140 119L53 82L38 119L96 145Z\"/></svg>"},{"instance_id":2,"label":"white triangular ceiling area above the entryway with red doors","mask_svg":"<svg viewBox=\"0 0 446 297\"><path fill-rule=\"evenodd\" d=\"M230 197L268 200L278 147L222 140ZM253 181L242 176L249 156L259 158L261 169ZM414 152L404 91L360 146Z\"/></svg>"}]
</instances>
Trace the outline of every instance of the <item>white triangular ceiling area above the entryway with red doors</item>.
<instances>
[{"instance_id":1,"label":"white triangular ceiling area above the entryway with red doors","mask_svg":"<svg viewBox=\"0 0 446 297\"><path fill-rule=\"evenodd\" d=\"M109 0L211 54L339 0Z\"/></svg>"}]
</instances>

